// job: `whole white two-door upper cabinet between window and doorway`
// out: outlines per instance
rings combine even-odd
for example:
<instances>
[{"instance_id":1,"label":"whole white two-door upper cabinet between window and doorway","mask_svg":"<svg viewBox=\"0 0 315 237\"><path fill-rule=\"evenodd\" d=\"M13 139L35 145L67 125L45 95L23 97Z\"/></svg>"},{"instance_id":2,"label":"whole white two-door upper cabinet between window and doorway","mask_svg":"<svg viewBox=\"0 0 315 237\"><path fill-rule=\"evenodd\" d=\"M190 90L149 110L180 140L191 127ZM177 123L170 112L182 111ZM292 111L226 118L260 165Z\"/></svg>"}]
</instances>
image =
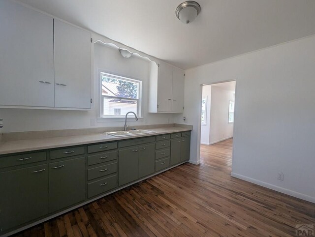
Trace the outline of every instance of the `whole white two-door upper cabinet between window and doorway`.
<instances>
[{"instance_id":1,"label":"whole white two-door upper cabinet between window and doorway","mask_svg":"<svg viewBox=\"0 0 315 237\"><path fill-rule=\"evenodd\" d=\"M164 62L151 65L150 113L183 113L184 71ZM157 73L158 72L158 73ZM158 75L156 75L158 74Z\"/></svg>"}]
</instances>

